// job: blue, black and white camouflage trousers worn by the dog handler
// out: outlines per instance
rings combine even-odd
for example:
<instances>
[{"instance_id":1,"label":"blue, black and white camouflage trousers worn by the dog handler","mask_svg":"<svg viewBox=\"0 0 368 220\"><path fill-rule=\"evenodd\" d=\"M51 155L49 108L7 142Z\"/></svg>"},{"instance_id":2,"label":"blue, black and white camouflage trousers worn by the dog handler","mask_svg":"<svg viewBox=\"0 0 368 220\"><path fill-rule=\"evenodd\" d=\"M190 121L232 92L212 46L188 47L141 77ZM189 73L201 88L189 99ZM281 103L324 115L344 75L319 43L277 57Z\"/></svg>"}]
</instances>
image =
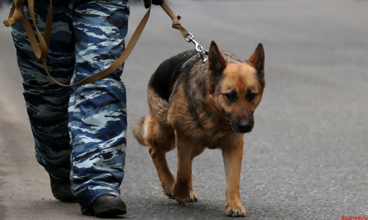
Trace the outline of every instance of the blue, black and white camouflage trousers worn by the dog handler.
<instances>
[{"instance_id":1,"label":"blue, black and white camouflage trousers worn by the dog handler","mask_svg":"<svg viewBox=\"0 0 368 220\"><path fill-rule=\"evenodd\" d=\"M48 1L35 2L41 32L47 10ZM126 0L56 1L50 74L76 83L110 66L125 49L129 12ZM127 128L123 67L95 83L62 88L35 58L21 22L12 34L37 161L53 177L70 178L82 212L101 194L120 196Z\"/></svg>"}]
</instances>

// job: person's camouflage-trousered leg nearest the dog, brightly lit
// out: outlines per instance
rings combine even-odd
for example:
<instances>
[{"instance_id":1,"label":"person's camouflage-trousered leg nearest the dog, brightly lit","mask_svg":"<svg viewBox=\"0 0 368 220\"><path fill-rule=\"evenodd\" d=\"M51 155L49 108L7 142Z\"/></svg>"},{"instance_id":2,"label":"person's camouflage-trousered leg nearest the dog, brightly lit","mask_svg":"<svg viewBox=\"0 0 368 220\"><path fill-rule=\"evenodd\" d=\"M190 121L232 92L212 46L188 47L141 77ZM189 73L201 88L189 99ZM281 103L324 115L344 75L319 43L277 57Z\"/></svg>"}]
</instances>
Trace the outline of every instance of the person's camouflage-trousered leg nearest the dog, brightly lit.
<instances>
[{"instance_id":1,"label":"person's camouflage-trousered leg nearest the dog, brightly lit","mask_svg":"<svg viewBox=\"0 0 368 220\"><path fill-rule=\"evenodd\" d=\"M106 69L124 51L129 7L125 0L73 4L76 61L71 83L76 83ZM99 195L120 196L127 127L122 71L71 92L71 183L84 214Z\"/></svg>"}]
</instances>

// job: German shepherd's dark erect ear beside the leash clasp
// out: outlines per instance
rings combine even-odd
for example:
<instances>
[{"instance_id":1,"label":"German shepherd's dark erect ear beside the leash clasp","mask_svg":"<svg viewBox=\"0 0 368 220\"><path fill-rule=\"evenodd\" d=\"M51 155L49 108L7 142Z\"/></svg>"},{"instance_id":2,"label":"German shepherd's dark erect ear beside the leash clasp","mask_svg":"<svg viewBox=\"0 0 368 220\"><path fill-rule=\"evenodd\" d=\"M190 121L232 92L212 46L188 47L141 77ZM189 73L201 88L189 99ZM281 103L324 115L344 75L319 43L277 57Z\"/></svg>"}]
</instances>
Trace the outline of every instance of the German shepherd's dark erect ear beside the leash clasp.
<instances>
[{"instance_id":1,"label":"German shepherd's dark erect ear beside the leash clasp","mask_svg":"<svg viewBox=\"0 0 368 220\"><path fill-rule=\"evenodd\" d=\"M226 67L226 61L221 55L215 41L211 42L208 51L208 86L209 92L212 94L215 91L216 85L219 83L222 72Z\"/></svg>"}]
</instances>

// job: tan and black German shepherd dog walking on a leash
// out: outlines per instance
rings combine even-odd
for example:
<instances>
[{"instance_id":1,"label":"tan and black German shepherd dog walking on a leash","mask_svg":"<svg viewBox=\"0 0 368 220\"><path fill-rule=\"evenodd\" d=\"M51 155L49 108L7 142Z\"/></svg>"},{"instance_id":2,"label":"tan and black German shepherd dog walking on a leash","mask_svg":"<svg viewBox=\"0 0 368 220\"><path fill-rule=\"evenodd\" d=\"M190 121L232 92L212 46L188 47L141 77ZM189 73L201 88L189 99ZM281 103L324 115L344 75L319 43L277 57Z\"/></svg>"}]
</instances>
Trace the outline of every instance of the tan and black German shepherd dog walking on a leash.
<instances>
[{"instance_id":1,"label":"tan and black German shepherd dog walking on a leash","mask_svg":"<svg viewBox=\"0 0 368 220\"><path fill-rule=\"evenodd\" d=\"M195 50L164 61L149 81L149 113L133 128L138 142L149 146L164 194L179 203L197 202L192 187L192 161L205 148L222 150L226 172L227 216L245 216L239 185L243 134L251 132L253 113L265 88L265 55L259 44L242 62L220 52L212 41L208 62ZM166 153L177 150L177 176Z\"/></svg>"}]
</instances>

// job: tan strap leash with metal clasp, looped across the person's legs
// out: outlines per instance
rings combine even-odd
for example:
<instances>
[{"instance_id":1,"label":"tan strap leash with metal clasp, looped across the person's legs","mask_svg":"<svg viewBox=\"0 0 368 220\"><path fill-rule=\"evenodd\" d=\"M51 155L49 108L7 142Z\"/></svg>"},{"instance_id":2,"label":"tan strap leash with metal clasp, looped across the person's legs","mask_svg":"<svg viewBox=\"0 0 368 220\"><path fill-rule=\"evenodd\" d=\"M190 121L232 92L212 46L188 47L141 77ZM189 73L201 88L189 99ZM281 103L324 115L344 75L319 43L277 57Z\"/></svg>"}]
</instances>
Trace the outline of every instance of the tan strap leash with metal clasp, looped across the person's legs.
<instances>
[{"instance_id":1,"label":"tan strap leash with metal clasp, looped across the person's legs","mask_svg":"<svg viewBox=\"0 0 368 220\"><path fill-rule=\"evenodd\" d=\"M146 23L148 21L148 18L149 18L150 12L151 12L151 7L152 7L152 1L151 1L151 5L149 6L149 8L148 8L146 14L144 15L144 17L142 18L141 22L139 22L139 24L138 24L137 28L135 29L129 43L125 47L124 52L115 60L115 62L111 66L107 67L105 70L102 70L98 73L93 74L92 76L84 78L83 80L79 81L78 83L67 85L67 84L59 83L55 78L53 78L51 76L51 74L49 73L49 70L47 68L46 59L47 59L47 54L48 54L48 49L49 49L49 44L50 44L50 39L51 39L51 30L52 30L52 0L50 0L49 11L47 12L44 36L42 36L41 32L39 31L39 29L36 25L35 11L34 11L34 0L28 0L29 14L31 16L32 23L35 26L38 40L36 38L36 34L33 32L33 29L32 29L31 23L29 22L29 19L26 17L25 12L23 11L24 3L25 3L25 0L14 0L13 1L9 17L8 17L7 20L4 21L4 25L8 27L8 26L13 25L17 21L22 22L22 25L24 26L25 32L28 36L29 42L30 42L31 47L33 49L33 52L35 53L35 55L38 59L42 60L43 67L44 67L47 75L50 77L50 79L54 83L56 83L57 85L63 86L63 87L76 87L76 86L85 85L85 84L88 84L88 83L95 82L95 81L100 80L101 78L106 77L109 74L113 73L121 65L123 65L125 60L128 58L128 56L132 52L135 44L137 44L137 41L138 41L139 37L141 36L141 34L143 32L143 29L146 26ZM160 6L167 13L167 15L169 15L169 17L172 19L172 21L173 21L172 27L175 28L175 29L180 30L181 34L184 36L184 38L187 42L194 43L195 50L197 52L199 52L199 54L201 55L202 61L206 62L207 58L204 58L204 55L208 55L208 51L206 51L200 45L199 42L194 40L193 34L189 33L181 25L181 23L179 22L181 17L179 15L175 15L173 13L173 11L171 11L169 6L167 6L167 4L165 2L163 2Z\"/></svg>"}]
</instances>

